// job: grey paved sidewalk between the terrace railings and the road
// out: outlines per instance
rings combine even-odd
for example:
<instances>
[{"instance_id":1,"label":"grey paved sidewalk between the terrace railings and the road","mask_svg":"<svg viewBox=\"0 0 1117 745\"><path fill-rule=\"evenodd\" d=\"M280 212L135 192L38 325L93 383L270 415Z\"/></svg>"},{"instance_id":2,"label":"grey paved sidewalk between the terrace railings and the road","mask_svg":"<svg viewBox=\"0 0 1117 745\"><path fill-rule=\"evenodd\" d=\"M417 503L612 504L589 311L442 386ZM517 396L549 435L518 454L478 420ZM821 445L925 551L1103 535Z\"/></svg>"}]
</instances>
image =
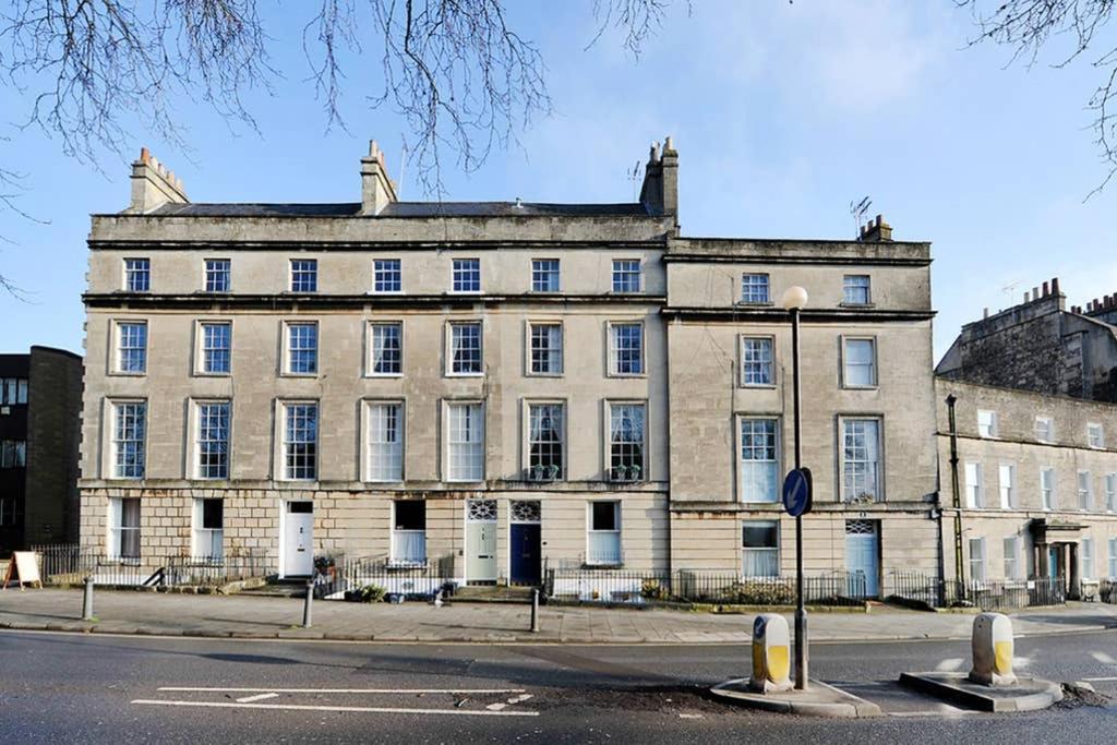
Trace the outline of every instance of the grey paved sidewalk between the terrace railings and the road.
<instances>
[{"instance_id":1,"label":"grey paved sidewalk between the terrace railings and the road","mask_svg":"<svg viewBox=\"0 0 1117 745\"><path fill-rule=\"evenodd\" d=\"M314 628L303 629L303 601L245 595L191 595L97 590L97 621L80 620L80 590L0 592L0 629L194 637L357 641L724 643L751 639L751 615L671 610L542 608L541 632L528 631L526 605L362 604L318 600ZM1018 636L1117 629L1117 605L1072 603L1013 614ZM790 620L790 619L789 619ZM968 639L973 617L875 609L814 613L813 641Z\"/></svg>"}]
</instances>

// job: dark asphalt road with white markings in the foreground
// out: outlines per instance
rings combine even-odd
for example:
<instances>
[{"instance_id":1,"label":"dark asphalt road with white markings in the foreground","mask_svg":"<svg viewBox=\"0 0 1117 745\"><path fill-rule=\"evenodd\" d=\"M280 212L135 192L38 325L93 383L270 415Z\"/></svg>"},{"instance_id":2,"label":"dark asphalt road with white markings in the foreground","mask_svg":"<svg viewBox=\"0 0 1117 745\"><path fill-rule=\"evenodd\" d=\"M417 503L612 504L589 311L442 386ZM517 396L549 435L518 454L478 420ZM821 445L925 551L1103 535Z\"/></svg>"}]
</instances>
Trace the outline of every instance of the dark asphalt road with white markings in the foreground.
<instances>
[{"instance_id":1,"label":"dark asphalt road with white markings in the foreground","mask_svg":"<svg viewBox=\"0 0 1117 745\"><path fill-rule=\"evenodd\" d=\"M1117 701L1117 632L1021 639L1021 670ZM967 642L814 644L812 676L885 707L866 720L704 695L748 648L356 644L0 633L0 742L1113 743L1114 703L985 715L900 691Z\"/></svg>"}]
</instances>

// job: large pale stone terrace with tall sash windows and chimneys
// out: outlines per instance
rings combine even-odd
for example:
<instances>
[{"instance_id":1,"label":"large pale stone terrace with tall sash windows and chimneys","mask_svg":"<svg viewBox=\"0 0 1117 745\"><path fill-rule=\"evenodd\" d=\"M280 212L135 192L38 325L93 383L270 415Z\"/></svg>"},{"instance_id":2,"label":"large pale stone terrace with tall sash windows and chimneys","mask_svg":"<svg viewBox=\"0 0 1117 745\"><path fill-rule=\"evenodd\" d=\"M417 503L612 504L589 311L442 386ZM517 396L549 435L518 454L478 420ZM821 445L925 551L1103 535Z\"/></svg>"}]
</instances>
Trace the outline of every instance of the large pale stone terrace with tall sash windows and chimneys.
<instances>
[{"instance_id":1,"label":"large pale stone terrace with tall sash windows and chimneys","mask_svg":"<svg viewBox=\"0 0 1117 745\"><path fill-rule=\"evenodd\" d=\"M929 246L682 238L678 154L640 201L189 202L146 152L93 218L83 544L551 565L792 566L803 312L811 572L937 561Z\"/></svg>"}]
</instances>

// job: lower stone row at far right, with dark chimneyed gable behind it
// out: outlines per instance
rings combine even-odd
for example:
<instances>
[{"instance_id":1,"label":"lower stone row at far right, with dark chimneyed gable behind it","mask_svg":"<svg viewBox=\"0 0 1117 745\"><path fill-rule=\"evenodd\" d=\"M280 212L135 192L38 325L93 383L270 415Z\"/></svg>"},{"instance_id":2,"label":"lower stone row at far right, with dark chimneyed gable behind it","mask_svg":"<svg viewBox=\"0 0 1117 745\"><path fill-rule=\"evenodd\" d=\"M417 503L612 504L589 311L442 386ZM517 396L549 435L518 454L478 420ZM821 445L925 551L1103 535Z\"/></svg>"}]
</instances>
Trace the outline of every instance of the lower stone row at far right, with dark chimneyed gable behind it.
<instances>
[{"instance_id":1,"label":"lower stone row at far right, with dark chimneyed gable behind it","mask_svg":"<svg viewBox=\"0 0 1117 745\"><path fill-rule=\"evenodd\" d=\"M1115 334L1057 279L963 327L935 382L946 577L1059 577L1075 596L1117 576Z\"/></svg>"}]
</instances>

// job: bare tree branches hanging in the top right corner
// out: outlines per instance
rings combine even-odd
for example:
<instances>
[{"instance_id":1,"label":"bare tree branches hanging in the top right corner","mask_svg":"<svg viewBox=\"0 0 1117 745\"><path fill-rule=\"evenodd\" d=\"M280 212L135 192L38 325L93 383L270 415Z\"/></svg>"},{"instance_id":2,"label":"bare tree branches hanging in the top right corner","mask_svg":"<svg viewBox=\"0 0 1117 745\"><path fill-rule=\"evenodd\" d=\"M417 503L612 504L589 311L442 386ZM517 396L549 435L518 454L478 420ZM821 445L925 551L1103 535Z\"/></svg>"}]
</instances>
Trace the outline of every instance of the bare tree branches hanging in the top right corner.
<instances>
[{"instance_id":1,"label":"bare tree branches hanging in the top right corner","mask_svg":"<svg viewBox=\"0 0 1117 745\"><path fill-rule=\"evenodd\" d=\"M1083 55L1101 76L1087 111L1106 175L1086 199L1099 193L1117 176L1117 39L1114 38L1114 11L1117 0L994 0L991 10L985 0L955 0L968 8L978 35L970 45L992 41L1012 48L1011 63L1035 65L1041 54L1060 42L1054 67L1067 67ZM1107 32L1109 32L1107 35ZM1100 46L1100 51L1098 50Z\"/></svg>"}]
</instances>

